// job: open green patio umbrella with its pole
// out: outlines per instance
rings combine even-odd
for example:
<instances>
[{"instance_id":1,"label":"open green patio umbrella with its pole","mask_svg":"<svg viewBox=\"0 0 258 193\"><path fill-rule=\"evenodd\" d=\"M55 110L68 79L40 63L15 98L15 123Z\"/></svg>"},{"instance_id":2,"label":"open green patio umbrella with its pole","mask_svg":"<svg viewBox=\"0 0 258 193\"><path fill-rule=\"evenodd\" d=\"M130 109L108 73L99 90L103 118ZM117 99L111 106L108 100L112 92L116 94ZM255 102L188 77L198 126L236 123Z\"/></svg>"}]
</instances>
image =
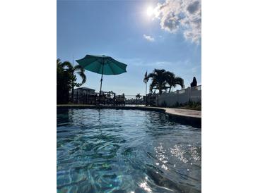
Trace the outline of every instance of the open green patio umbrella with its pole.
<instances>
[{"instance_id":1,"label":"open green patio umbrella with its pole","mask_svg":"<svg viewBox=\"0 0 258 193\"><path fill-rule=\"evenodd\" d=\"M101 75L100 92L102 88L103 75L119 75L127 72L127 64L116 61L110 56L86 55L80 60L76 60L80 66L93 73Z\"/></svg>"}]
</instances>

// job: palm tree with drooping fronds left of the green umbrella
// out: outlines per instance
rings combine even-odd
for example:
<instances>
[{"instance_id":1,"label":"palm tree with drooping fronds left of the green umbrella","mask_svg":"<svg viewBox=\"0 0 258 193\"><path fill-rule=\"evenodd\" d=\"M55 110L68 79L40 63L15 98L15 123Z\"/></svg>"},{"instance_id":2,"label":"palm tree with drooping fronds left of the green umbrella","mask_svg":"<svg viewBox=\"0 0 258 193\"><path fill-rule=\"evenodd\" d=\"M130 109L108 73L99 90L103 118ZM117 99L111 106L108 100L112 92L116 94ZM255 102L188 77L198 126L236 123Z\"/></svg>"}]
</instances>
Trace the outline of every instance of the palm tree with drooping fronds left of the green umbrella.
<instances>
[{"instance_id":1,"label":"palm tree with drooping fronds left of the green umbrella","mask_svg":"<svg viewBox=\"0 0 258 193\"><path fill-rule=\"evenodd\" d=\"M69 61L64 61L63 63L61 63L61 67L66 67L66 70L71 73L71 101L74 102L74 87L81 87L81 85L86 82L86 75L84 74L85 70L80 65L73 66ZM76 82L76 74L81 76L81 83Z\"/></svg>"}]
</instances>

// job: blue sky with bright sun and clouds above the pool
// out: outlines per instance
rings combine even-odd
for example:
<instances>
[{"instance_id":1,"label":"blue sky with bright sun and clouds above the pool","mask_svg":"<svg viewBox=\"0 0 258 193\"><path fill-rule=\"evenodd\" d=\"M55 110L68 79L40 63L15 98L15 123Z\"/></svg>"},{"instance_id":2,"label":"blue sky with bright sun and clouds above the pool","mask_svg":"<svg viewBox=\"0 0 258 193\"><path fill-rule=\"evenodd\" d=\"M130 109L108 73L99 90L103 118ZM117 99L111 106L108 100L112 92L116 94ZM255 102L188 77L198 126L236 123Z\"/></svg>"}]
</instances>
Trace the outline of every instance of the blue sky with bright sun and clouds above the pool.
<instances>
[{"instance_id":1,"label":"blue sky with bright sun and clouds above the pool","mask_svg":"<svg viewBox=\"0 0 258 193\"><path fill-rule=\"evenodd\" d=\"M144 74L154 68L182 77L185 87L194 76L201 85L201 1L58 0L57 58L77 65L86 54L128 65L127 73L103 75L104 91L145 94ZM86 70L86 77L82 87L98 92L101 75Z\"/></svg>"}]
</instances>

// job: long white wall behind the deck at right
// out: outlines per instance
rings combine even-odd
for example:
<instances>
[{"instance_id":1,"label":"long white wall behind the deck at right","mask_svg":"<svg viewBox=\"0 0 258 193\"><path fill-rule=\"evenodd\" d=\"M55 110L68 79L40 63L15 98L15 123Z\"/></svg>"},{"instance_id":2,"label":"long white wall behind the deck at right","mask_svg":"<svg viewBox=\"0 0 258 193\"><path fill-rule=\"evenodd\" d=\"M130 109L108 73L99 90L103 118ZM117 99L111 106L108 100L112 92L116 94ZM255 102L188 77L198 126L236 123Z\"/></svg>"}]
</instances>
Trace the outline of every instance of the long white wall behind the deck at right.
<instances>
[{"instance_id":1,"label":"long white wall behind the deck at right","mask_svg":"<svg viewBox=\"0 0 258 193\"><path fill-rule=\"evenodd\" d=\"M163 93L158 96L158 106L173 106L177 104L184 104L191 101L201 101L201 85L197 87L188 87L187 89L177 90L175 92Z\"/></svg>"}]
</instances>

